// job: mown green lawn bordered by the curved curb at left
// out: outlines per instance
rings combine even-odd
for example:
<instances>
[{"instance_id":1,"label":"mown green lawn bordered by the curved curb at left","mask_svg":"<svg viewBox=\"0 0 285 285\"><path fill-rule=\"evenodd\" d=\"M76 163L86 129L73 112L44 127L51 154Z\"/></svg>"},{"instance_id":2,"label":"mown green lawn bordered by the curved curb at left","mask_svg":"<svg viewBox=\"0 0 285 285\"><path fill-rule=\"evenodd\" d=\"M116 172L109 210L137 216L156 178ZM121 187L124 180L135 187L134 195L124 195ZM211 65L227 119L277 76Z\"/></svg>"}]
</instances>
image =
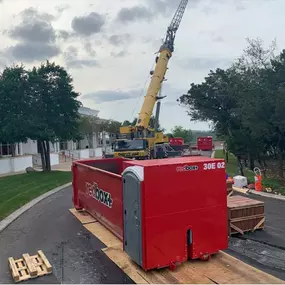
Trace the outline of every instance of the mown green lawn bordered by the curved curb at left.
<instances>
[{"instance_id":1,"label":"mown green lawn bordered by the curved curb at left","mask_svg":"<svg viewBox=\"0 0 285 285\"><path fill-rule=\"evenodd\" d=\"M32 172L0 178L0 220L34 198L71 182L71 172Z\"/></svg>"}]
</instances>

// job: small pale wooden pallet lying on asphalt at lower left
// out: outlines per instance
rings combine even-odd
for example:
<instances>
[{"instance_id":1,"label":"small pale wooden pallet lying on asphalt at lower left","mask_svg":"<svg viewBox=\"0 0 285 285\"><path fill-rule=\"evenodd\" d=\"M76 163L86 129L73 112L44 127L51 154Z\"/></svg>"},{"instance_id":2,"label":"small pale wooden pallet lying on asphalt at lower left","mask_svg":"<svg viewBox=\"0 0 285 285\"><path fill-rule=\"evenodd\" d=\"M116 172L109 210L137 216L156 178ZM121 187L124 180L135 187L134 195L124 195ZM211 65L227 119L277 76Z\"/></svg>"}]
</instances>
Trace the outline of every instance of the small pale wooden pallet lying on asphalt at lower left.
<instances>
[{"instance_id":1,"label":"small pale wooden pallet lying on asphalt at lower left","mask_svg":"<svg viewBox=\"0 0 285 285\"><path fill-rule=\"evenodd\" d=\"M32 256L25 253L23 258L16 260L9 257L8 263L16 283L52 273L52 266L41 250L38 251L38 254Z\"/></svg>"}]
</instances>

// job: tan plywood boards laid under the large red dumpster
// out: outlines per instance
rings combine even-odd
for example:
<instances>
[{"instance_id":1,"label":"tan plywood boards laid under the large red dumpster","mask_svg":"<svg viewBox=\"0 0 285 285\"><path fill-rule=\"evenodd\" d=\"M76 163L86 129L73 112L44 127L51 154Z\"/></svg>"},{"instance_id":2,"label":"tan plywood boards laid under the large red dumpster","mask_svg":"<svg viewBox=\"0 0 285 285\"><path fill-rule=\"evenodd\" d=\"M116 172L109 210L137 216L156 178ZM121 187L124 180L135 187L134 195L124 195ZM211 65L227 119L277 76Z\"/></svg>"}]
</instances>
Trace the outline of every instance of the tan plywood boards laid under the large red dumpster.
<instances>
[{"instance_id":1,"label":"tan plywood boards laid under the large red dumpster","mask_svg":"<svg viewBox=\"0 0 285 285\"><path fill-rule=\"evenodd\" d=\"M74 211L71 210L74 214ZM79 221L86 214L78 212ZM285 284L272 275L262 272L244 262L219 252L209 262L191 260L177 267L145 272L123 251L122 242L98 221L83 224L96 238L106 245L102 251L137 284Z\"/></svg>"}]
</instances>

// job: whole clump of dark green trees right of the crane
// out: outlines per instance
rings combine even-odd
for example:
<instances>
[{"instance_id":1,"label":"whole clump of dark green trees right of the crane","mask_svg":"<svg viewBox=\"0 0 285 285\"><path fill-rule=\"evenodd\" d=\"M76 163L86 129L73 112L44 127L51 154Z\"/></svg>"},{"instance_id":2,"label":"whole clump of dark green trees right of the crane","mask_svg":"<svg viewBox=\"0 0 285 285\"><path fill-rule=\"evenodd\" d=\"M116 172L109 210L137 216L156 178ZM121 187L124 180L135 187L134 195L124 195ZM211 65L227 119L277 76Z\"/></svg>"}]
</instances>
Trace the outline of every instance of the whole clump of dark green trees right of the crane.
<instances>
[{"instance_id":1,"label":"whole clump of dark green trees right of the crane","mask_svg":"<svg viewBox=\"0 0 285 285\"><path fill-rule=\"evenodd\" d=\"M250 168L262 154L276 153L283 177L285 151L285 52L274 55L275 44L264 48L248 40L243 55L226 69L210 71L201 84L192 84L179 102L193 121L212 122L217 135L239 162L247 156Z\"/></svg>"}]
</instances>

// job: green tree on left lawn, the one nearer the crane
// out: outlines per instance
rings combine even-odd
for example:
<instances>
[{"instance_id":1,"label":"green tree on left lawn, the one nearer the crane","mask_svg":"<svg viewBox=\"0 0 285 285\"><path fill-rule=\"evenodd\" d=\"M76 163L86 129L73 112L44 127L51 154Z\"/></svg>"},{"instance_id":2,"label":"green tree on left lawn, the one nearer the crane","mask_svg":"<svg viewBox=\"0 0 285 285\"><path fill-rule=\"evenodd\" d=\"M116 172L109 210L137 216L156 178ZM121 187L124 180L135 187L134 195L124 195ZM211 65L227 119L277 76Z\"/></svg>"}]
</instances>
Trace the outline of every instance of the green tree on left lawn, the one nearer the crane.
<instances>
[{"instance_id":1,"label":"green tree on left lawn, the one nearer the crane","mask_svg":"<svg viewBox=\"0 0 285 285\"><path fill-rule=\"evenodd\" d=\"M63 67L49 61L29 73L34 123L29 137L39 141L43 170L46 171L51 170L50 142L79 137L81 103L72 81Z\"/></svg>"}]
</instances>

